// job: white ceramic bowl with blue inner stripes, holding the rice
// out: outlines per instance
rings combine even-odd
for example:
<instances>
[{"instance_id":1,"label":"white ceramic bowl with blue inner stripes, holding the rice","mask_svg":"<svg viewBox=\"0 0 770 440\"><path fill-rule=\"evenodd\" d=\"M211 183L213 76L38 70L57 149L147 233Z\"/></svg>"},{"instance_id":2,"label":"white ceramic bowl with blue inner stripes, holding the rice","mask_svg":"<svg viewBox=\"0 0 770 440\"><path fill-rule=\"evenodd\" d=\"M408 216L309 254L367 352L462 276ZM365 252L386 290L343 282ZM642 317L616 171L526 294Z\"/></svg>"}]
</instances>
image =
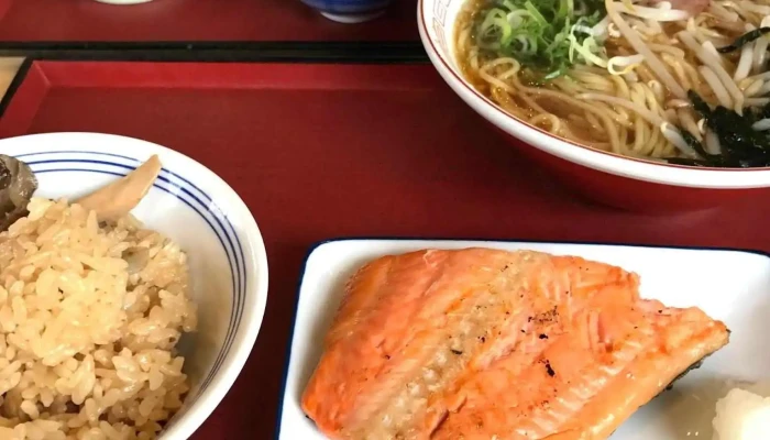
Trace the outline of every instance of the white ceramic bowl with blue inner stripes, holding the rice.
<instances>
[{"instance_id":1,"label":"white ceramic bowl with blue inner stripes, holding the rice","mask_svg":"<svg viewBox=\"0 0 770 440\"><path fill-rule=\"evenodd\" d=\"M74 198L125 175L153 154L163 170L132 213L187 252L199 326L179 351L191 389L162 435L187 439L232 386L254 345L267 300L267 257L249 208L224 180L191 158L136 139L50 133L0 140L28 163L36 196Z\"/></svg>"}]
</instances>

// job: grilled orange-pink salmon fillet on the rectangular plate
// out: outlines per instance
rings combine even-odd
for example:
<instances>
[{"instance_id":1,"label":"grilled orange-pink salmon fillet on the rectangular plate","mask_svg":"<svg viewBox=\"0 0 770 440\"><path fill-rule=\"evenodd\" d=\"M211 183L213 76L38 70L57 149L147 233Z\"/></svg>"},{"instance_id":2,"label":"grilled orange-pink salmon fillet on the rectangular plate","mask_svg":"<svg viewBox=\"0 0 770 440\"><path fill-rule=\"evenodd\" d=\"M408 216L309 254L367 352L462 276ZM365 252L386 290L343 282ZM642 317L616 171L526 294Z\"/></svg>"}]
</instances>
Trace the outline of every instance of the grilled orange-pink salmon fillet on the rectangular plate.
<instances>
[{"instance_id":1,"label":"grilled orange-pink salmon fillet on the rectangular plate","mask_svg":"<svg viewBox=\"0 0 770 440\"><path fill-rule=\"evenodd\" d=\"M605 439L728 337L607 264L391 255L349 280L301 406L330 439Z\"/></svg>"}]
</instances>

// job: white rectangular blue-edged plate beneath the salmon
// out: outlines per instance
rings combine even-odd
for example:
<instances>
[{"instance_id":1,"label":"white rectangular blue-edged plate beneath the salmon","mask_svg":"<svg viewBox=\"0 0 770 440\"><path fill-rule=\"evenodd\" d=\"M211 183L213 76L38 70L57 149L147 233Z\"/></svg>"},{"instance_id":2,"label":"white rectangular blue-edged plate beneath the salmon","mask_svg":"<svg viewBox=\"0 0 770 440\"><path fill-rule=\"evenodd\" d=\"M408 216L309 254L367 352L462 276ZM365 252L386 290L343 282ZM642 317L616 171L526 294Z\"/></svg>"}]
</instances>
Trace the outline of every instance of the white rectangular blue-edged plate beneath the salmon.
<instances>
[{"instance_id":1,"label":"white rectangular blue-edged plate beneath the salmon","mask_svg":"<svg viewBox=\"0 0 770 440\"><path fill-rule=\"evenodd\" d=\"M306 261L289 350L286 383L276 437L280 440L326 440L305 417L299 399L321 356L346 279L364 263L387 254L420 249L496 248L578 255L636 272L641 294L668 306L697 306L725 321L730 343L704 365L639 409L613 440L711 440L716 399L728 381L770 381L770 257L760 253L571 244L454 240L336 240L319 244Z\"/></svg>"}]
</instances>

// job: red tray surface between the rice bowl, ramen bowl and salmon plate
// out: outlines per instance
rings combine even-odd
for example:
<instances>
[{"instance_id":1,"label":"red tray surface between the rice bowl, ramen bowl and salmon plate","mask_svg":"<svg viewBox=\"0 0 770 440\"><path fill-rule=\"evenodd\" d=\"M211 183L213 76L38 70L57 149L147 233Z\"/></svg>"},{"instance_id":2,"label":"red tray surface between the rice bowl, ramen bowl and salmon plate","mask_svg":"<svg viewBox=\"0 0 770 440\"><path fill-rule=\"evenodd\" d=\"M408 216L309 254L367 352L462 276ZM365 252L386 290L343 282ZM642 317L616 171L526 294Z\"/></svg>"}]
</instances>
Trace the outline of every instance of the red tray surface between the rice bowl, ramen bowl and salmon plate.
<instances>
[{"instance_id":1,"label":"red tray surface between the rice bowl, ramen bowl and salmon plate","mask_svg":"<svg viewBox=\"0 0 770 440\"><path fill-rule=\"evenodd\" d=\"M297 278L320 240L770 251L763 200L654 217L574 198L482 123L430 66L36 62L0 119L0 136L53 131L124 134L180 151L222 176L262 229L271 266L264 324L196 439L274 433Z\"/></svg>"}]
</instances>

